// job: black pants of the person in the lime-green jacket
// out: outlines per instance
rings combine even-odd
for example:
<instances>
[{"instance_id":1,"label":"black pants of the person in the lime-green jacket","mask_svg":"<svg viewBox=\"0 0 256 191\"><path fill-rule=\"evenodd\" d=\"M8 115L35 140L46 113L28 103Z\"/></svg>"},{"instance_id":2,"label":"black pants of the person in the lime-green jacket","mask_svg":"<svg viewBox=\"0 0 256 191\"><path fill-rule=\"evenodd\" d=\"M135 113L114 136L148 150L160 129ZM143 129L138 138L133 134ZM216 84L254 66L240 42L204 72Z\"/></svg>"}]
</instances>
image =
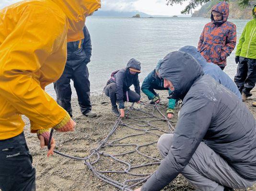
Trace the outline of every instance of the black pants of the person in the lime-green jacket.
<instances>
[{"instance_id":1,"label":"black pants of the person in the lime-green jacket","mask_svg":"<svg viewBox=\"0 0 256 191\"><path fill-rule=\"evenodd\" d=\"M248 97L256 83L256 59L240 57L234 82L239 91Z\"/></svg>"}]
</instances>

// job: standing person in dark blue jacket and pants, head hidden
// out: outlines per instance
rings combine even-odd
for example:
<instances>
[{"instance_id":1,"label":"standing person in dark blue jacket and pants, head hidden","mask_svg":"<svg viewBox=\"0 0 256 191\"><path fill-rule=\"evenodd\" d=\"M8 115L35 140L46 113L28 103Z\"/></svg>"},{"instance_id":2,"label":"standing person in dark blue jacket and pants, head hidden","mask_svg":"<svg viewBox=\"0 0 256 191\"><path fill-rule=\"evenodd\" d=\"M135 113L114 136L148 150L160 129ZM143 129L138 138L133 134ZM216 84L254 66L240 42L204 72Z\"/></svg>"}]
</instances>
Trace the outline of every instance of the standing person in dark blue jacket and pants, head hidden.
<instances>
[{"instance_id":1,"label":"standing person in dark blue jacket and pants, head hidden","mask_svg":"<svg viewBox=\"0 0 256 191\"><path fill-rule=\"evenodd\" d=\"M68 42L68 55L61 77L54 83L57 102L72 117L70 79L74 82L81 113L89 118L96 117L90 100L90 81L87 64L91 61L92 42L86 26L83 28L84 39Z\"/></svg>"}]
</instances>

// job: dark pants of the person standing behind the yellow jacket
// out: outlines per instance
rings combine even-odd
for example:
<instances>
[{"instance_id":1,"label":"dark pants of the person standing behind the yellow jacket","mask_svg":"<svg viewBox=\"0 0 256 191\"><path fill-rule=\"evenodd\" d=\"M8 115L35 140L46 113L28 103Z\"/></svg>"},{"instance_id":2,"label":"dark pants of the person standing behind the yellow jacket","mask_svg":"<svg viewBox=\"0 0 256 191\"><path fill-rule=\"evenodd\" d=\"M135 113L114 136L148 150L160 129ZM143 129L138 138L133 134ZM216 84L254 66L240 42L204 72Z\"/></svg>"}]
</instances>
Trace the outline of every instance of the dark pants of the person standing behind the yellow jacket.
<instances>
[{"instance_id":1,"label":"dark pants of the person standing behind the yellow jacket","mask_svg":"<svg viewBox=\"0 0 256 191\"><path fill-rule=\"evenodd\" d=\"M58 105L72 116L70 79L74 81L81 112L83 114L90 112L92 104L90 100L89 71L86 64L80 64L75 70L66 66L61 77L54 83Z\"/></svg>"}]
</instances>

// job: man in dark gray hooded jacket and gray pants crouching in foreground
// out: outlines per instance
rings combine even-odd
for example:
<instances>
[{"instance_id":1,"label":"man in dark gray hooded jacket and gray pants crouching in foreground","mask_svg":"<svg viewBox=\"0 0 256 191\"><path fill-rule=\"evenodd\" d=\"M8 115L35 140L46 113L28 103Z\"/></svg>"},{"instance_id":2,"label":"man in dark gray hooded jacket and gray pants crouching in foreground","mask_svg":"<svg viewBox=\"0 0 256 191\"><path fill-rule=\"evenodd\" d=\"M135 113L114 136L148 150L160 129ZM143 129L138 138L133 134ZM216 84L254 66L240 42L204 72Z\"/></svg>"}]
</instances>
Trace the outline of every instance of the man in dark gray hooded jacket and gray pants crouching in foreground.
<instances>
[{"instance_id":1,"label":"man in dark gray hooded jacket and gray pants crouching in foreground","mask_svg":"<svg viewBox=\"0 0 256 191\"><path fill-rule=\"evenodd\" d=\"M136 191L160 191L181 173L198 191L233 191L256 183L256 122L239 98L184 52L167 54L164 87L183 100L174 134L157 147L163 160Z\"/></svg>"}]
</instances>

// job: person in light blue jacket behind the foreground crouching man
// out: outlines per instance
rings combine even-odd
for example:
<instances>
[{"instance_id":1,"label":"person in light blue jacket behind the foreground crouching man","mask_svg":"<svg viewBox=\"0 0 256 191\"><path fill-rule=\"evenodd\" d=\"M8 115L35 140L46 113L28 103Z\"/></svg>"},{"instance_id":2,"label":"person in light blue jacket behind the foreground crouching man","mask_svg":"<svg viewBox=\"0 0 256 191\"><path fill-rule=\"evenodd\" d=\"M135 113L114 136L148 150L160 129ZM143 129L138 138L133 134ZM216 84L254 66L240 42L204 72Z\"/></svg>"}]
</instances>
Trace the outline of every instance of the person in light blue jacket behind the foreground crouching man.
<instances>
[{"instance_id":1,"label":"person in light blue jacket behind the foreground crouching man","mask_svg":"<svg viewBox=\"0 0 256 191\"><path fill-rule=\"evenodd\" d=\"M183 46L179 49L179 51L189 53L190 55L192 55L203 68L204 74L208 74L211 77L213 77L218 83L224 85L242 101L242 95L239 89L237 88L233 80L228 76L228 74L223 72L218 65L213 63L207 63L205 58L201 55L201 53L198 52L198 49L196 47Z\"/></svg>"}]
</instances>

